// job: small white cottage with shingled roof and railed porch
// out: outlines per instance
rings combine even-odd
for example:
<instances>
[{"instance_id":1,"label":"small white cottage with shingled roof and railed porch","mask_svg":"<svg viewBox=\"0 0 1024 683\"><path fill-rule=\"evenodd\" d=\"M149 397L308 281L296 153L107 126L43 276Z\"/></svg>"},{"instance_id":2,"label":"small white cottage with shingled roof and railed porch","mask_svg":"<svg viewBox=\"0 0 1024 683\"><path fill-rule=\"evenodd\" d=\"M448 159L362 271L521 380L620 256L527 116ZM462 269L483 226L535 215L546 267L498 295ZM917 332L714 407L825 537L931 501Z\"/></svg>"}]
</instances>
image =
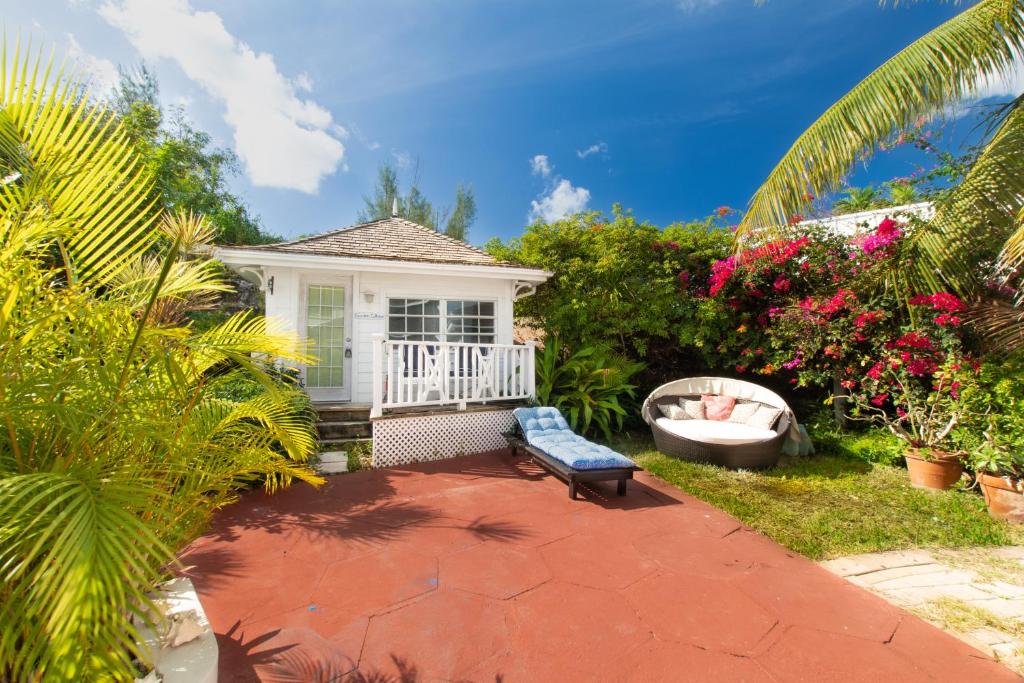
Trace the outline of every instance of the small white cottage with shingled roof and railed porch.
<instances>
[{"instance_id":1,"label":"small white cottage with shingled roof and railed porch","mask_svg":"<svg viewBox=\"0 0 1024 683\"><path fill-rule=\"evenodd\" d=\"M534 348L513 344L512 307L550 272L500 262L397 216L292 242L222 247L215 256L259 284L267 316L309 339L318 361L302 376L315 401L366 405L374 418L401 410L406 421L438 417L409 417L410 408L451 407L455 413L443 417L461 434L481 419L476 411L453 418L469 404L534 396ZM497 422L507 421L504 413ZM389 425L410 431L397 427ZM381 431L375 423L375 461ZM466 438L456 435L458 450L470 450ZM453 439L442 449L426 440L428 455L453 455L444 453ZM482 445L492 443L500 445L494 438Z\"/></svg>"}]
</instances>

